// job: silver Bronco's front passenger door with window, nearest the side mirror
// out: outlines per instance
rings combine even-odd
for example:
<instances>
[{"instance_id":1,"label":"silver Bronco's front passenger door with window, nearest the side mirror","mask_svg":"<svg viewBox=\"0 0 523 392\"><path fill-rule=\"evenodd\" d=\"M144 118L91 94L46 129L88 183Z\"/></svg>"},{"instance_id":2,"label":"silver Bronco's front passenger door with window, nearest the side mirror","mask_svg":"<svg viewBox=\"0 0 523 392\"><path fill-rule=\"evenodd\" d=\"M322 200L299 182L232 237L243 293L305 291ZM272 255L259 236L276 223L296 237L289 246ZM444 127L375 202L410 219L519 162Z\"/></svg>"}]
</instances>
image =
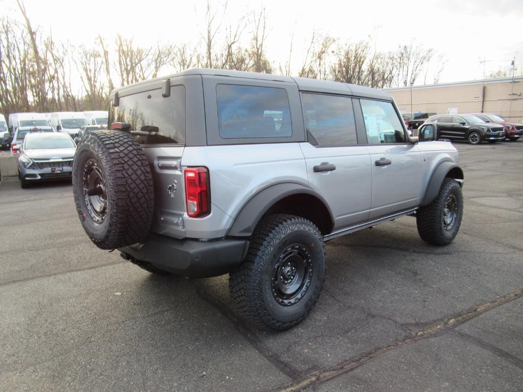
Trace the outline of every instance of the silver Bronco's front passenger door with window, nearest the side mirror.
<instances>
[{"instance_id":1,"label":"silver Bronco's front passenger door with window, nearest the side mirror","mask_svg":"<svg viewBox=\"0 0 523 392\"><path fill-rule=\"evenodd\" d=\"M422 188L416 144L408 141L392 102L361 98L359 103L372 173L369 218L415 207Z\"/></svg>"}]
</instances>

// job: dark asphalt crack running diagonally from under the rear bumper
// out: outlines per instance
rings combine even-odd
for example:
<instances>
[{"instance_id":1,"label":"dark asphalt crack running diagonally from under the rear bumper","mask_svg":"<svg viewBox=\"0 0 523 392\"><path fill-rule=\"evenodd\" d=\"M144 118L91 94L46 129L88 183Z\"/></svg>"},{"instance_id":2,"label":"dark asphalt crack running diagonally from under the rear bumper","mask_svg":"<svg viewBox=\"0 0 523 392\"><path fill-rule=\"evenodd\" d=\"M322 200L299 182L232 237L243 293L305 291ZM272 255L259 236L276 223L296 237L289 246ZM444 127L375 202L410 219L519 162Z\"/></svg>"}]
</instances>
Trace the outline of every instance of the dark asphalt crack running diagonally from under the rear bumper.
<instances>
[{"instance_id":1,"label":"dark asphalt crack running diagonally from under the rear bumper","mask_svg":"<svg viewBox=\"0 0 523 392\"><path fill-rule=\"evenodd\" d=\"M288 376L290 379L295 380L300 377L298 370L296 370L292 365L281 360L280 355L274 350L267 347L267 345L252 331L246 324L246 322L239 316L237 316L231 309L229 309L225 304L218 301L214 296L210 295L203 286L198 283L194 283L196 288L196 293L207 303L212 305L214 308L228 318L234 328L241 333L241 335L258 351L261 355L265 357L270 363L272 363L280 372Z\"/></svg>"}]
</instances>

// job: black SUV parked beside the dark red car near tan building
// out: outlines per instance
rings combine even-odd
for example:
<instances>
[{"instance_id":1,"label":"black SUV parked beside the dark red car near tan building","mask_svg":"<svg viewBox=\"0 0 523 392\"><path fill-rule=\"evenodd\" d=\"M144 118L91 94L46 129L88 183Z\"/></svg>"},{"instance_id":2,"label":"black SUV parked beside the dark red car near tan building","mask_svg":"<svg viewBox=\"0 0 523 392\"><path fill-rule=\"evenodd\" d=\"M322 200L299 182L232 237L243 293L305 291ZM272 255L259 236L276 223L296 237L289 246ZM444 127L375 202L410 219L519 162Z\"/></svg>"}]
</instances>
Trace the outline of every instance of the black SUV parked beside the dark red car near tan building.
<instances>
[{"instance_id":1,"label":"black SUV parked beside the dark red car near tan building","mask_svg":"<svg viewBox=\"0 0 523 392\"><path fill-rule=\"evenodd\" d=\"M468 140L470 144L505 139L503 125L486 123L470 114L439 114L429 117L425 124L436 125L438 139Z\"/></svg>"}]
</instances>

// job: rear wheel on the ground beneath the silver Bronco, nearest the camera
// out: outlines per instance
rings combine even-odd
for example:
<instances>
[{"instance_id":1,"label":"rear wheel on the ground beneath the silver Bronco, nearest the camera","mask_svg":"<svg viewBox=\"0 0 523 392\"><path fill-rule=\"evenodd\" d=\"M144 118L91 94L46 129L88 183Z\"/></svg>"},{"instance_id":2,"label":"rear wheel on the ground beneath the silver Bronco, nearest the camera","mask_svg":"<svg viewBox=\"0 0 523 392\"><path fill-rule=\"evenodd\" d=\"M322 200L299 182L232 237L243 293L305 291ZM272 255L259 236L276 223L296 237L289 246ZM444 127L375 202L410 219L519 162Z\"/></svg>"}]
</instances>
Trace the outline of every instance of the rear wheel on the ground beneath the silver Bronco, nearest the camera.
<instances>
[{"instance_id":1,"label":"rear wheel on the ground beneath the silver Bronco, nearest the camera","mask_svg":"<svg viewBox=\"0 0 523 392\"><path fill-rule=\"evenodd\" d=\"M278 280L274 283L275 272L282 271L276 266L281 263L286 266L286 260L292 257L300 259L286 258L298 252L307 260L303 263L307 280L300 286L306 285L306 289L297 289L295 297L289 295L284 300L277 294L279 289L275 290L278 284ZM294 215L267 215L254 230L246 259L229 274L229 290L242 316L262 327L286 330L299 324L316 304L325 281L326 262L323 236L312 222ZM299 279L298 276L294 282Z\"/></svg>"}]
</instances>

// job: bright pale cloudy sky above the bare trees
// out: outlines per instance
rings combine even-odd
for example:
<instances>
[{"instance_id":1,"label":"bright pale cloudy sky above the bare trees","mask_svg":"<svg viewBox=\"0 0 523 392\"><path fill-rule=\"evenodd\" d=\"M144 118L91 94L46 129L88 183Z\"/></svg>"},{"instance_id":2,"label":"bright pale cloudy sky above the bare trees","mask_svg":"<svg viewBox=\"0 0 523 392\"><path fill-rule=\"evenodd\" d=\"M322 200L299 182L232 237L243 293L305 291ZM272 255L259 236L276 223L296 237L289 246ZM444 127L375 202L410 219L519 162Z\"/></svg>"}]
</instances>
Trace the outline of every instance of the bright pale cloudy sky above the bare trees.
<instances>
[{"instance_id":1,"label":"bright pale cloudy sky above the bare trees","mask_svg":"<svg viewBox=\"0 0 523 392\"><path fill-rule=\"evenodd\" d=\"M211 2L217 10L224 4ZM204 28L206 1L25 0L25 5L33 27L52 32L57 40L90 45L98 34L112 40L120 33L143 45L196 45ZM21 18L15 0L0 0L0 6ZM242 16L262 7L269 27L268 57L276 68L287 61L293 36L291 67L298 70L313 30L340 42L370 37L381 51L412 40L434 48L427 84L433 83L440 56L445 61L440 83L482 79L484 66L488 75L510 67L514 56L516 65L523 67L523 0L229 0L223 25L237 25ZM219 11L217 19L222 15ZM244 43L248 30L249 26ZM486 60L484 66L481 60ZM423 82L421 78L416 84Z\"/></svg>"}]
</instances>

